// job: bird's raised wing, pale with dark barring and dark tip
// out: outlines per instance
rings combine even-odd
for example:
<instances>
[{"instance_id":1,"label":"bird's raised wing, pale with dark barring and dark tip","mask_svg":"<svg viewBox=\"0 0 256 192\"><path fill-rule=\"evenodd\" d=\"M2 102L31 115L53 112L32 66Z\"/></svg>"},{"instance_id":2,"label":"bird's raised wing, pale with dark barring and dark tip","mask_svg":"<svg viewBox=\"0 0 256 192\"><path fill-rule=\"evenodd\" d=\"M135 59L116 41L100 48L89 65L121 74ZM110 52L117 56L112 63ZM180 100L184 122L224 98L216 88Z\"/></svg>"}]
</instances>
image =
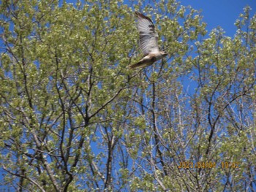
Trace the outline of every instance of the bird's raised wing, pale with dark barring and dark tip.
<instances>
[{"instance_id":1,"label":"bird's raised wing, pale with dark barring and dark tip","mask_svg":"<svg viewBox=\"0 0 256 192\"><path fill-rule=\"evenodd\" d=\"M158 34L152 20L140 12L135 12L138 17L138 31L140 32L140 48L145 55L159 52Z\"/></svg>"}]
</instances>

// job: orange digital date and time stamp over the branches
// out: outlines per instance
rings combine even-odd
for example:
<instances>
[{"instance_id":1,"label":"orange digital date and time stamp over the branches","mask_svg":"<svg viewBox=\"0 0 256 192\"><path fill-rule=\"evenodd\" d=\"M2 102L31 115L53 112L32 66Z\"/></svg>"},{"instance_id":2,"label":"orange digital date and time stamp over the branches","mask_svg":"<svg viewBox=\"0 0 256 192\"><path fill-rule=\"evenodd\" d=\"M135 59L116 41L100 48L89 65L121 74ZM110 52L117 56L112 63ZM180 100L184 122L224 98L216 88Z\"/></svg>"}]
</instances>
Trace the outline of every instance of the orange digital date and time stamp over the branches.
<instances>
[{"instance_id":1,"label":"orange digital date and time stamp over the branches","mask_svg":"<svg viewBox=\"0 0 256 192\"><path fill-rule=\"evenodd\" d=\"M193 162L193 161L183 161L178 163L178 169L214 169L217 167L221 167L222 169L238 169L239 162L227 162L223 161L220 164L216 164L216 162L212 161L200 161L200 162Z\"/></svg>"}]
</instances>

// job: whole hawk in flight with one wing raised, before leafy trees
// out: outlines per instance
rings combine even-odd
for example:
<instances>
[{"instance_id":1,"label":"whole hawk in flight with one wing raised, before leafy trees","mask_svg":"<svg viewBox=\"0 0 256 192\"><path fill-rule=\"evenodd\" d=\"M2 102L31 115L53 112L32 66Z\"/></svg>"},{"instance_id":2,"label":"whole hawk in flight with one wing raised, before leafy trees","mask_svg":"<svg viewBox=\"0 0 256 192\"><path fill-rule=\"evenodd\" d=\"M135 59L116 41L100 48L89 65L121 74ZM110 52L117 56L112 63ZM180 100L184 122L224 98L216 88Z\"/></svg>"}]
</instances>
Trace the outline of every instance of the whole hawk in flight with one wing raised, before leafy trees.
<instances>
[{"instance_id":1,"label":"whole hawk in flight with one wing raised, before leafy trees","mask_svg":"<svg viewBox=\"0 0 256 192\"><path fill-rule=\"evenodd\" d=\"M155 61L164 58L167 53L160 51L158 47L158 34L152 20L140 12L135 12L138 18L138 31L140 33L140 49L143 51L143 58L136 64L129 67L142 68L154 64Z\"/></svg>"}]
</instances>

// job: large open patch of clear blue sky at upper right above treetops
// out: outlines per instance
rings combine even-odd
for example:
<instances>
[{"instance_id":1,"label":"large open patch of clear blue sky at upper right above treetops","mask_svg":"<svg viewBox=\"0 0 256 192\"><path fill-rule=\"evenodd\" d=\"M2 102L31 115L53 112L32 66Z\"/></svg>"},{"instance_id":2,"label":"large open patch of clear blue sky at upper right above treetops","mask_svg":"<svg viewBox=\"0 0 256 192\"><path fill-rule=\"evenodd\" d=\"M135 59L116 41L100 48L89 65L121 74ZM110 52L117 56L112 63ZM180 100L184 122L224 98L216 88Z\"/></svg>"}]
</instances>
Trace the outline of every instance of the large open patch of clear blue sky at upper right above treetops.
<instances>
[{"instance_id":1,"label":"large open patch of clear blue sky at upper right above treetops","mask_svg":"<svg viewBox=\"0 0 256 192\"><path fill-rule=\"evenodd\" d=\"M191 5L194 9L202 10L203 21L207 23L207 29L221 26L226 35L233 37L236 33L234 23L238 16L243 13L244 7L252 8L251 14L256 12L255 0L178 0L181 5ZM252 16L251 15L251 16Z\"/></svg>"}]
</instances>

